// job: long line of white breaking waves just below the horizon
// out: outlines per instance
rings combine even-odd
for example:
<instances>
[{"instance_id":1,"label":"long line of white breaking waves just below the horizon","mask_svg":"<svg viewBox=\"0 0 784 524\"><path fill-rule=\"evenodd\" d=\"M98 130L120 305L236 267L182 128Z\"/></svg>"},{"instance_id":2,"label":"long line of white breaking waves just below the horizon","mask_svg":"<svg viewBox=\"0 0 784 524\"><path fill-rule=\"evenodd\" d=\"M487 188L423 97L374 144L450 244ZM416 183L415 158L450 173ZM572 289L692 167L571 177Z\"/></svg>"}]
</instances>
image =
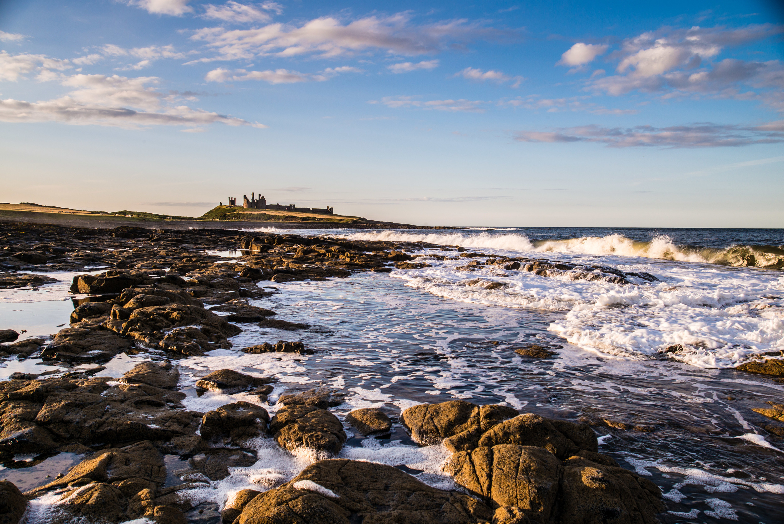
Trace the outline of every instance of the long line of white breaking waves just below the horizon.
<instances>
[{"instance_id":1,"label":"long line of white breaking waves just below the horizon","mask_svg":"<svg viewBox=\"0 0 784 524\"><path fill-rule=\"evenodd\" d=\"M641 242L623 235L604 237L564 238L561 240L531 241L526 235L494 234L482 231L478 235L463 233L413 234L398 231L358 232L345 235L357 240L387 240L390 242L429 242L442 246L492 248L521 253L572 253L583 255L621 255L648 257L681 262L702 262L735 267L784 267L784 246L730 246L706 248L677 246L672 238L659 235Z\"/></svg>"}]
</instances>

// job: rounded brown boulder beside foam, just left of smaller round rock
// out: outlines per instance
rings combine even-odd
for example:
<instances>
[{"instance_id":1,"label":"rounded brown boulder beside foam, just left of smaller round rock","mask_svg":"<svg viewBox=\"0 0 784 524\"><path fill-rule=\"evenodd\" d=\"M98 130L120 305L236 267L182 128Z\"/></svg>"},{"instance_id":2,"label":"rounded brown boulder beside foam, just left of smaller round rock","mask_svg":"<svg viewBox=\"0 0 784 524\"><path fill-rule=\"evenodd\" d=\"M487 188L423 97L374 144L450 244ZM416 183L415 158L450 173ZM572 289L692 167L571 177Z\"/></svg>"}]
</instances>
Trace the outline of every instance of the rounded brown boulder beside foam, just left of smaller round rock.
<instances>
[{"instance_id":1,"label":"rounded brown boulder beside foam, just left of smaller round rock","mask_svg":"<svg viewBox=\"0 0 784 524\"><path fill-rule=\"evenodd\" d=\"M300 447L337 455L346 442L338 417L314 406L283 406L270 420L270 434L289 451Z\"/></svg>"}]
</instances>

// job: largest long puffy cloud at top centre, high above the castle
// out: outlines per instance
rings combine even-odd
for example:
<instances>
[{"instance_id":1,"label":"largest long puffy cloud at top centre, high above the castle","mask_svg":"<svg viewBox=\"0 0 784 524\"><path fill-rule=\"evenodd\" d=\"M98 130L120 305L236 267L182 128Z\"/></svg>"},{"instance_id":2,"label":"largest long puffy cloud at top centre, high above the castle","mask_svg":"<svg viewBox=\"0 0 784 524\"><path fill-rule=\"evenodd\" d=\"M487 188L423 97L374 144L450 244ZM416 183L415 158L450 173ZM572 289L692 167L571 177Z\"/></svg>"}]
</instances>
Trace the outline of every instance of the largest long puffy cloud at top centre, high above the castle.
<instances>
[{"instance_id":1,"label":"largest long puffy cloud at top centre, high above the castle","mask_svg":"<svg viewBox=\"0 0 784 524\"><path fill-rule=\"evenodd\" d=\"M211 60L247 60L253 56L321 57L351 55L383 50L402 55L435 53L448 43L459 44L481 37L493 37L501 31L468 24L466 20L448 20L438 24L412 26L408 13L393 16L368 16L343 24L332 16L309 20L296 27L269 24L249 30L205 27L191 36L207 42L219 53Z\"/></svg>"}]
</instances>

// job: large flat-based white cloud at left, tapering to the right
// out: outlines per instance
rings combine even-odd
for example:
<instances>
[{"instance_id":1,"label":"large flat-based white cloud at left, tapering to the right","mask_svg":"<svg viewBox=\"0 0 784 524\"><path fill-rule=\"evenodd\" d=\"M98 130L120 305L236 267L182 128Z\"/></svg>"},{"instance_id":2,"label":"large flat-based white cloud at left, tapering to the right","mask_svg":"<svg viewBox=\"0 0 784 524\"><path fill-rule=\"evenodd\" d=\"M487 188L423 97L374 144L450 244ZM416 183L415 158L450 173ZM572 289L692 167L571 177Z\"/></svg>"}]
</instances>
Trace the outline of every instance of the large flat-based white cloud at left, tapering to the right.
<instances>
[{"instance_id":1,"label":"large flat-based white cloud at left, tapering to the right","mask_svg":"<svg viewBox=\"0 0 784 524\"><path fill-rule=\"evenodd\" d=\"M178 103L174 95L158 92L155 77L126 78L118 75L60 76L70 93L45 102L0 100L2 122L63 122L75 125L198 127L221 122L228 126L266 127L227 115L193 109Z\"/></svg>"}]
</instances>

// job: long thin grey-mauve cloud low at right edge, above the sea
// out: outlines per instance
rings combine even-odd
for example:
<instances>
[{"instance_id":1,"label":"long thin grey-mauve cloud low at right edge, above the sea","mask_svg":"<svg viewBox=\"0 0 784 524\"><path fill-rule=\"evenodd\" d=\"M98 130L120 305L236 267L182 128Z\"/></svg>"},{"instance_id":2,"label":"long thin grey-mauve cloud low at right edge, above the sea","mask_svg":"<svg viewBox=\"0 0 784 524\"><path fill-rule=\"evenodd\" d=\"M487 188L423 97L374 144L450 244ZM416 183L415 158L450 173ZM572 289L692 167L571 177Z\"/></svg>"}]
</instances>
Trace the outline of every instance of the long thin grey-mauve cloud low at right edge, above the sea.
<instances>
[{"instance_id":1,"label":"long thin grey-mauve cloud low at right edge, above the sea","mask_svg":"<svg viewBox=\"0 0 784 524\"><path fill-rule=\"evenodd\" d=\"M722 126L699 123L689 126L635 126L606 128L579 126L554 132L520 131L514 133L518 142L595 142L608 147L742 147L753 144L784 142L784 129L771 122L766 126ZM772 124L772 126L771 126Z\"/></svg>"}]
</instances>

